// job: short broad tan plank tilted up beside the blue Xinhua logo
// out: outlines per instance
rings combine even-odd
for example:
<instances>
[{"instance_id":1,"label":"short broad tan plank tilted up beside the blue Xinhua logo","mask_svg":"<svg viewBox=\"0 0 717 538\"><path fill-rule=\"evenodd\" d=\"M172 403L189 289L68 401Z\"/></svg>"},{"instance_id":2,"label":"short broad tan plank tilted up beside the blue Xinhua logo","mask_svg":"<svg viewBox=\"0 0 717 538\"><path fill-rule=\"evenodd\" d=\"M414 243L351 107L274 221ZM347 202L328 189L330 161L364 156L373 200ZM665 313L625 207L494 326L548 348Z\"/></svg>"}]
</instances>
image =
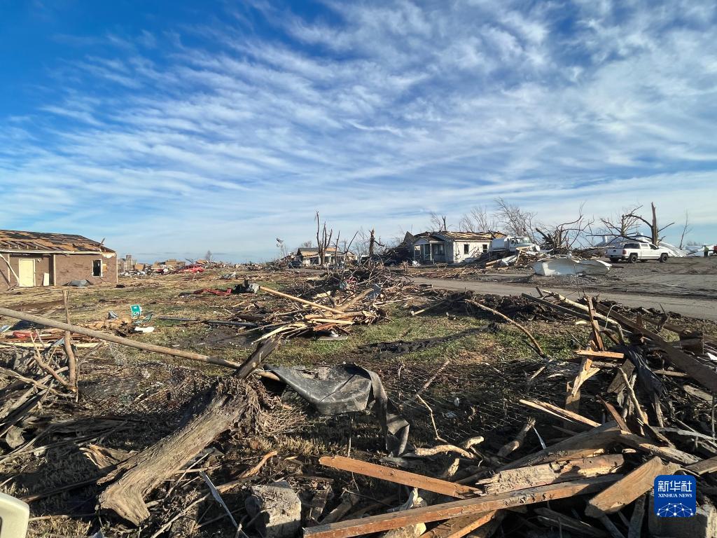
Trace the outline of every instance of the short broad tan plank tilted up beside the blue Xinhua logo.
<instances>
[{"instance_id":1,"label":"short broad tan plank tilted up beside the blue Xinhua logo","mask_svg":"<svg viewBox=\"0 0 717 538\"><path fill-rule=\"evenodd\" d=\"M606 514L614 514L652 489L656 476L673 474L679 468L680 466L675 463L665 464L660 458L652 458L590 499L585 508L585 515L599 518Z\"/></svg>"}]
</instances>

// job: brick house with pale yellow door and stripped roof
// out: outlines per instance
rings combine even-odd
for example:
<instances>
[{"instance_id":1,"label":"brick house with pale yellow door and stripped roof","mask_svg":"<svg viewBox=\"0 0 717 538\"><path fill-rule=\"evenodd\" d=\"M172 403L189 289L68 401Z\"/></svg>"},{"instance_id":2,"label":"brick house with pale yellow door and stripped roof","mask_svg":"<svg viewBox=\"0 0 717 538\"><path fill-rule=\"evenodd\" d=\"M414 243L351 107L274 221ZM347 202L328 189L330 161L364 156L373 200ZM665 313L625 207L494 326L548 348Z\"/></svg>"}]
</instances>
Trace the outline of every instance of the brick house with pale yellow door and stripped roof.
<instances>
[{"instance_id":1,"label":"brick house with pale yellow door and stripped roof","mask_svg":"<svg viewBox=\"0 0 717 538\"><path fill-rule=\"evenodd\" d=\"M0 291L72 280L117 283L117 253L82 235L0 230Z\"/></svg>"}]
</instances>

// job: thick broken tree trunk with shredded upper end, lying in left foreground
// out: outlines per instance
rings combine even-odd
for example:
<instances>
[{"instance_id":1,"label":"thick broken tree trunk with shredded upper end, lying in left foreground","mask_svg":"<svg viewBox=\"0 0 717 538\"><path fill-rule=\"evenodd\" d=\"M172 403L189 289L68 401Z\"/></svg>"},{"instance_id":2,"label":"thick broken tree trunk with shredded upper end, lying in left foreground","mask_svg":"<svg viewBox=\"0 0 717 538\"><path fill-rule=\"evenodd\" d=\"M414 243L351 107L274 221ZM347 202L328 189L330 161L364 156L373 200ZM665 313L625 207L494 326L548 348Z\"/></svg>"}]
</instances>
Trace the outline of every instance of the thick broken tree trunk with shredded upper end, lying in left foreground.
<instances>
[{"instance_id":1,"label":"thick broken tree trunk with shredded upper end, lying in left foreground","mask_svg":"<svg viewBox=\"0 0 717 538\"><path fill-rule=\"evenodd\" d=\"M198 412L175 433L120 463L103 482L120 477L100 495L100 506L115 511L134 524L149 516L144 497L176 471L189 463L197 453L220 433L234 428L252 428L259 410L257 392L243 379L277 347L268 340L226 379L220 379L208 394L200 395L197 405L206 402Z\"/></svg>"}]
</instances>

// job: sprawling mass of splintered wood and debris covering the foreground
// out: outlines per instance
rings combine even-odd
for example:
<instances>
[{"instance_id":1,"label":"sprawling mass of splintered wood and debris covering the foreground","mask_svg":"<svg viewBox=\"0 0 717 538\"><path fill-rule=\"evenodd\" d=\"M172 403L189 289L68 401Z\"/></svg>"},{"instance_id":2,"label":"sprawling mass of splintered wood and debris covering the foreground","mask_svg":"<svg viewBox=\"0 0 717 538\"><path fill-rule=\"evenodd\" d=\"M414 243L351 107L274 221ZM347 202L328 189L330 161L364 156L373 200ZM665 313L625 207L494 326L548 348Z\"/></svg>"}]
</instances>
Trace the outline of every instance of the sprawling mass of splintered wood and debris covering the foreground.
<instances>
[{"instance_id":1,"label":"sprawling mass of splintered wood and debris covering the foreground","mask_svg":"<svg viewBox=\"0 0 717 538\"><path fill-rule=\"evenodd\" d=\"M76 519L78 536L98 538L717 532L717 343L689 320L542 289L517 298L426 291L380 267L288 279L281 290L249 280L227 289L238 301L225 308L230 318L207 322L255 334L241 362L117 336L110 331L119 321L79 326L0 308L0 316L36 324L29 347L0 340L6 491ZM380 369L271 364L280 339L346 336L385 319L386 305L418 298L424 306L409 315L470 313L510 324L536 357L498 365L446 359L407 384L407 371L421 365L400 362L401 354L495 330L490 324L356 350L383 360ZM553 357L526 323L533 321L587 326L589 341L571 357ZM109 358L93 359L95 350L80 346L99 341L110 343ZM123 356L127 347L226 372L138 367ZM144 379L123 378L130 370ZM440 384L452 410L429 396ZM90 405L92 390L102 392L102 406ZM308 442L310 413L334 417L324 431L336 437L313 440L310 457L279 453L281 435L293 435L295 446ZM346 445L336 443L341 417ZM433 440L413 435L414 426ZM689 526L680 527L683 517Z\"/></svg>"}]
</instances>

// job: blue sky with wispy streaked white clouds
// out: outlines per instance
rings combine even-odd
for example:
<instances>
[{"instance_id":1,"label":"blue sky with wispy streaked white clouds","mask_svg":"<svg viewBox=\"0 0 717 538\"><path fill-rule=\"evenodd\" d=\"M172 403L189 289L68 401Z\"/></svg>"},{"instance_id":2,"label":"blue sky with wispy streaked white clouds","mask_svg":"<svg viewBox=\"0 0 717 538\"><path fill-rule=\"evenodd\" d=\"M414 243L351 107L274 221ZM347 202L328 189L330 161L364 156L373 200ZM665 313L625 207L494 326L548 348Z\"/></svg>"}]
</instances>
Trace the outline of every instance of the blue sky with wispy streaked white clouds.
<instances>
[{"instance_id":1,"label":"blue sky with wispy streaked white clouds","mask_svg":"<svg viewBox=\"0 0 717 538\"><path fill-rule=\"evenodd\" d=\"M0 227L153 260L655 202L717 240L713 1L0 0ZM678 225L668 234L675 240Z\"/></svg>"}]
</instances>

